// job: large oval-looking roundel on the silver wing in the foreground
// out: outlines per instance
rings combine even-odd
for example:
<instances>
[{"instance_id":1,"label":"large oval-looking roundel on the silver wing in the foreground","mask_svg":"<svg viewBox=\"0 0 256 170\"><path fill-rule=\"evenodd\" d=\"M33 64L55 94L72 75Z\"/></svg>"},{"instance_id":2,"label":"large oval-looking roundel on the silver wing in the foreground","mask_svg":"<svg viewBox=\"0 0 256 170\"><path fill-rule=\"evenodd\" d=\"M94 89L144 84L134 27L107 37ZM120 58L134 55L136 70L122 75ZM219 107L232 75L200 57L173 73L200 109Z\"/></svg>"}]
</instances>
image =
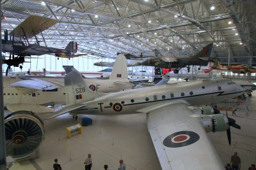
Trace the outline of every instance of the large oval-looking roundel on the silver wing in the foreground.
<instances>
[{"instance_id":1,"label":"large oval-looking roundel on the silver wing in the foreground","mask_svg":"<svg viewBox=\"0 0 256 170\"><path fill-rule=\"evenodd\" d=\"M169 148L179 148L182 146L191 145L198 141L199 138L200 136L195 132L180 131L167 136L163 141L163 145Z\"/></svg>"}]
</instances>

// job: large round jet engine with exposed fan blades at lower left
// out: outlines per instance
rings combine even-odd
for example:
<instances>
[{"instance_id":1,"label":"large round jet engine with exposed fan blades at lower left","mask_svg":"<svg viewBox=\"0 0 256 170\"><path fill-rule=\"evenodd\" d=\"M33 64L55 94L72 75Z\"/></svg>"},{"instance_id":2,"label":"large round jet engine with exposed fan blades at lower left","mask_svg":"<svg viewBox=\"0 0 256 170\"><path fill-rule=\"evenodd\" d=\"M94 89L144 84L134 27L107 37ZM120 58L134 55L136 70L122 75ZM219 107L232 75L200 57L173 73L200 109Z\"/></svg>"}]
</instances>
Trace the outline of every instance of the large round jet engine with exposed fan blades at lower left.
<instances>
[{"instance_id":1,"label":"large round jet engine with exposed fan blades at lower left","mask_svg":"<svg viewBox=\"0 0 256 170\"><path fill-rule=\"evenodd\" d=\"M6 155L28 157L44 140L44 122L31 111L15 111L4 117Z\"/></svg>"}]
</instances>

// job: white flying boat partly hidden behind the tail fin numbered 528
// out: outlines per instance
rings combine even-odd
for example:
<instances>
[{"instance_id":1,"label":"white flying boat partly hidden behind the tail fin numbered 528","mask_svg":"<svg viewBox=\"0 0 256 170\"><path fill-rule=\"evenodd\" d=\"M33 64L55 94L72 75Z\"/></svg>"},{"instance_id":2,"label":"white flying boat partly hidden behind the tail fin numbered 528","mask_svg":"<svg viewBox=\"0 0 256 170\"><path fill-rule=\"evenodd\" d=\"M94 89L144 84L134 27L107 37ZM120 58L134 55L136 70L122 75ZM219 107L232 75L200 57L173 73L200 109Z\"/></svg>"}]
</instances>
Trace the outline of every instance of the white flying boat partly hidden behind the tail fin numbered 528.
<instances>
[{"instance_id":1,"label":"white flying boat partly hidden behind the tail fin numbered 528","mask_svg":"<svg viewBox=\"0 0 256 170\"><path fill-rule=\"evenodd\" d=\"M127 61L118 55L109 79L84 78L95 92L117 92L131 89ZM4 106L10 111L29 110L35 113L53 111L47 106L65 104L64 79L60 77L20 76L3 77Z\"/></svg>"}]
</instances>

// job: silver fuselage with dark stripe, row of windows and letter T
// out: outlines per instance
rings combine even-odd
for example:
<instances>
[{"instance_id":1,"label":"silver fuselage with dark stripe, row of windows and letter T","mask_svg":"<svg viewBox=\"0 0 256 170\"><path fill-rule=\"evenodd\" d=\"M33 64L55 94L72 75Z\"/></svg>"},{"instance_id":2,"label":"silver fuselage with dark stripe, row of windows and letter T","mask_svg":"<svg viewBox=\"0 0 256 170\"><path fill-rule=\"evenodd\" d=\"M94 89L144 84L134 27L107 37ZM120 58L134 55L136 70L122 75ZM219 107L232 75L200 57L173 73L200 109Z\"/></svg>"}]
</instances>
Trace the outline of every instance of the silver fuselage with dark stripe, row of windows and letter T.
<instances>
[{"instance_id":1,"label":"silver fuselage with dark stripe, row of windows and letter T","mask_svg":"<svg viewBox=\"0 0 256 170\"><path fill-rule=\"evenodd\" d=\"M66 84L65 86L68 87ZM77 89L76 85L72 87ZM77 87L83 89L81 84L78 84ZM147 113L150 108L161 108L161 106L175 103L175 101L186 102L188 105L211 104L239 96L242 92L241 86L230 80L189 81L172 85L125 90L97 98L94 97L95 99L80 103L84 104L83 108L70 111L70 113L88 115ZM73 94L67 97L70 101L73 100L79 103L79 99L71 99L76 94L81 95L82 99L83 96L86 96L86 92L83 93L81 91L80 93L79 90L74 90Z\"/></svg>"}]
</instances>

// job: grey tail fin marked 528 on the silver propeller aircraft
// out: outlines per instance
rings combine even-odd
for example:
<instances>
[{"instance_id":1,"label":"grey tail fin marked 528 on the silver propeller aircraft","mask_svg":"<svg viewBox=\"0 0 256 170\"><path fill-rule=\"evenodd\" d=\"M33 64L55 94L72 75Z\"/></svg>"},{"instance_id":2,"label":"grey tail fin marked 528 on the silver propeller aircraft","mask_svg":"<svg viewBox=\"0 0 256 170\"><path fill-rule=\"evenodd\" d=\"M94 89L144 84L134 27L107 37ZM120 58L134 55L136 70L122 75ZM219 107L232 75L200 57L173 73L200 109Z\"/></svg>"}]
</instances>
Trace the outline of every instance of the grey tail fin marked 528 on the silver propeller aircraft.
<instances>
[{"instance_id":1,"label":"grey tail fin marked 528 on the silver propeller aircraft","mask_svg":"<svg viewBox=\"0 0 256 170\"><path fill-rule=\"evenodd\" d=\"M86 81L78 71L71 71L65 76L65 92L67 106L90 101L96 97L104 96L88 88Z\"/></svg>"}]
</instances>

